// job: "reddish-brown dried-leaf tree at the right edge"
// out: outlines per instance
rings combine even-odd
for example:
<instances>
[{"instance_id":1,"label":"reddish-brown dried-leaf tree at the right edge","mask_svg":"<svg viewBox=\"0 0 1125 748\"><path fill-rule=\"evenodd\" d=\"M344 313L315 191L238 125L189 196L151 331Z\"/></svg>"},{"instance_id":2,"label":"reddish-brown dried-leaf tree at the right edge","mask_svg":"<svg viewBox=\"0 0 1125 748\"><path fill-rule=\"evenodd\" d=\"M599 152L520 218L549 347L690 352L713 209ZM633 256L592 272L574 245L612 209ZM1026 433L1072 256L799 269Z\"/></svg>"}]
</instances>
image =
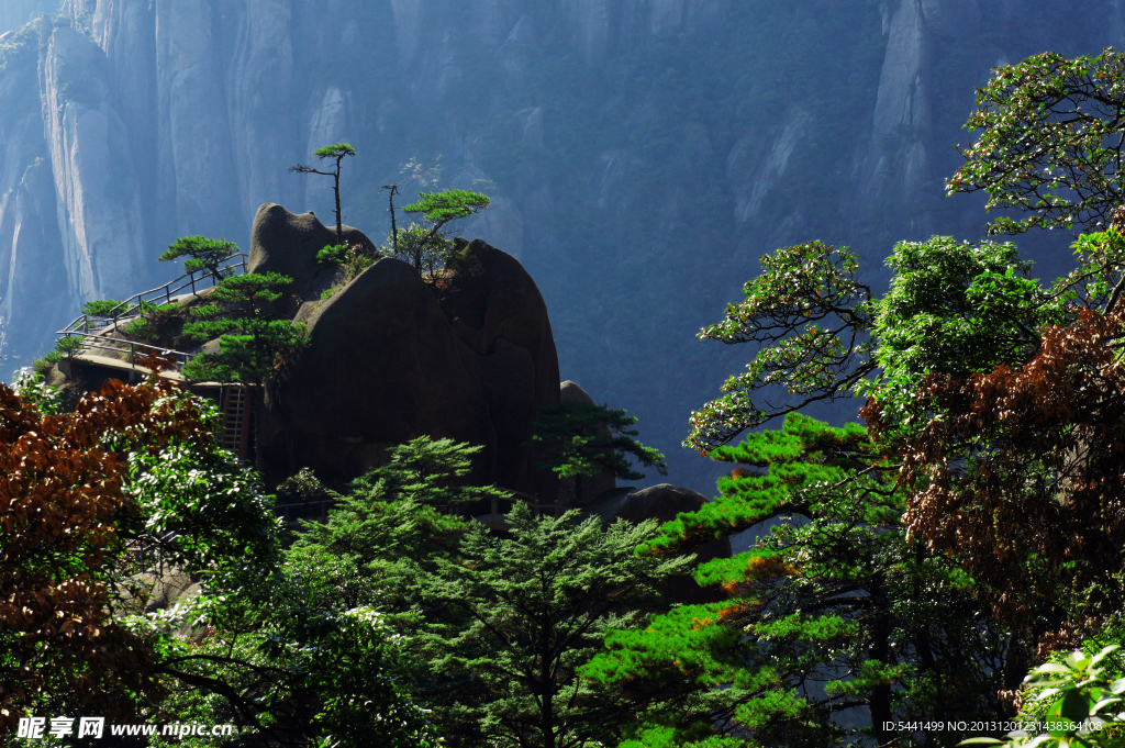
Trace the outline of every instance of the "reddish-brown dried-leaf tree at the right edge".
<instances>
[{"instance_id":1,"label":"reddish-brown dried-leaf tree at the right edge","mask_svg":"<svg viewBox=\"0 0 1125 748\"><path fill-rule=\"evenodd\" d=\"M1120 610L1125 564L1125 310L1081 309L1043 328L1026 363L965 379L932 375L918 394L937 417L902 450L903 517L957 555L997 613L1038 634ZM879 407L864 412L878 433ZM1081 598L1079 598L1081 597ZM1033 624L1033 611L1054 621Z\"/></svg>"}]
</instances>

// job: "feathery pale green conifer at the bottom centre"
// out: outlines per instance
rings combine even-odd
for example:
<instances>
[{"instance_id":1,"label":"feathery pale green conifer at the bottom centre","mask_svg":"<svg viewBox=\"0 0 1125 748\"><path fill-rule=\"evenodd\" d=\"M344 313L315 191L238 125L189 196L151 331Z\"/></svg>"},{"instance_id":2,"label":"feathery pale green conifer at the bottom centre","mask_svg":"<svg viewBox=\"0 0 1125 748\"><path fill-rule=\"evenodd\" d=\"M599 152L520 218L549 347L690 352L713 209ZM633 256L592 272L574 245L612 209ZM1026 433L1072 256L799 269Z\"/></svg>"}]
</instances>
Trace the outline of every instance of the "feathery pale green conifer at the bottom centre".
<instances>
[{"instance_id":1,"label":"feathery pale green conifer at the bottom centre","mask_svg":"<svg viewBox=\"0 0 1125 748\"><path fill-rule=\"evenodd\" d=\"M426 600L464 615L415 637L431 669L461 684L430 704L456 745L606 745L646 701L586 681L578 668L608 629L639 625L638 609L658 601L659 582L692 559L636 556L655 522L603 530L597 517L575 524L576 515L536 517L518 503L507 515L510 538L476 524L461 559L439 559L424 580Z\"/></svg>"}]
</instances>

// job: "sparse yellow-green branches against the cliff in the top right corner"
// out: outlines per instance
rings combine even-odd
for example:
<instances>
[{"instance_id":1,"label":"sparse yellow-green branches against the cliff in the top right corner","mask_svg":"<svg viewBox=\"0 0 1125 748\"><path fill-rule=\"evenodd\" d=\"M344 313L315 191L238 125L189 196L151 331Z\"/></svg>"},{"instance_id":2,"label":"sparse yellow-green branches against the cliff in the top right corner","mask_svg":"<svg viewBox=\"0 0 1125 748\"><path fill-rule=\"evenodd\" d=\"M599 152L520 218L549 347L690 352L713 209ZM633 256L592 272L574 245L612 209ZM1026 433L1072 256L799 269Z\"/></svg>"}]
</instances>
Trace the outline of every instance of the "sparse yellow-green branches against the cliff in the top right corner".
<instances>
[{"instance_id":1,"label":"sparse yellow-green branches against the cliff in the top right corner","mask_svg":"<svg viewBox=\"0 0 1125 748\"><path fill-rule=\"evenodd\" d=\"M964 126L982 132L946 189L984 190L988 209L1032 214L998 218L992 234L1107 226L1125 202L1123 115L1125 56L1116 49L1074 60L1045 52L996 67Z\"/></svg>"}]
</instances>

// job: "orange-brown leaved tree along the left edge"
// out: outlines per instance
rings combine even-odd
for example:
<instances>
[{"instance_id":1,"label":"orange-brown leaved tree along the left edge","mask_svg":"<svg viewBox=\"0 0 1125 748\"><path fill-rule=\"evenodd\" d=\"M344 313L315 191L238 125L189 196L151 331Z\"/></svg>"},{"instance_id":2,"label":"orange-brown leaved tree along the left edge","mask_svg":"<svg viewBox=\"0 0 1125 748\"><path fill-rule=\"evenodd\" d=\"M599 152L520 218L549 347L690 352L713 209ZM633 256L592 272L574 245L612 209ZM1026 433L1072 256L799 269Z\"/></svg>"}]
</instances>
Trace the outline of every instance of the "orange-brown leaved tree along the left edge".
<instances>
[{"instance_id":1,"label":"orange-brown leaved tree along the left edge","mask_svg":"<svg viewBox=\"0 0 1125 748\"><path fill-rule=\"evenodd\" d=\"M127 456L209 439L155 376L112 380L66 414L0 385L0 731L44 694L107 718L160 697L151 647L111 618L112 560L136 513Z\"/></svg>"}]
</instances>

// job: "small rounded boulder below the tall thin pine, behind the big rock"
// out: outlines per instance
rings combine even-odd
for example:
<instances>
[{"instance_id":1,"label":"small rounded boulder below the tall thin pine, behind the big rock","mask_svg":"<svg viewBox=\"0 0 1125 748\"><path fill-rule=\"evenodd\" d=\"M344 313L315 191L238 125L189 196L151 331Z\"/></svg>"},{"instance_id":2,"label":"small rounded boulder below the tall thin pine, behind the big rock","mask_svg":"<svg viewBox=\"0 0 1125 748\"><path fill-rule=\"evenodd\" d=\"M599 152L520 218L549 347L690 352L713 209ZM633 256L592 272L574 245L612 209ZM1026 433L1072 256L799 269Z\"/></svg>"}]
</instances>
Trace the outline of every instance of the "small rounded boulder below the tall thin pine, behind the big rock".
<instances>
[{"instance_id":1,"label":"small rounded boulder below the tall thin pine, behind the big rock","mask_svg":"<svg viewBox=\"0 0 1125 748\"><path fill-rule=\"evenodd\" d=\"M351 226L343 227L343 241L368 251L375 249L363 232ZM267 202L254 216L246 271L278 272L292 278L292 286L273 309L291 318L302 304L320 299L335 281L335 268L316 261L317 252L335 243L335 227L328 228L312 211L295 214L276 202Z\"/></svg>"}]
</instances>

